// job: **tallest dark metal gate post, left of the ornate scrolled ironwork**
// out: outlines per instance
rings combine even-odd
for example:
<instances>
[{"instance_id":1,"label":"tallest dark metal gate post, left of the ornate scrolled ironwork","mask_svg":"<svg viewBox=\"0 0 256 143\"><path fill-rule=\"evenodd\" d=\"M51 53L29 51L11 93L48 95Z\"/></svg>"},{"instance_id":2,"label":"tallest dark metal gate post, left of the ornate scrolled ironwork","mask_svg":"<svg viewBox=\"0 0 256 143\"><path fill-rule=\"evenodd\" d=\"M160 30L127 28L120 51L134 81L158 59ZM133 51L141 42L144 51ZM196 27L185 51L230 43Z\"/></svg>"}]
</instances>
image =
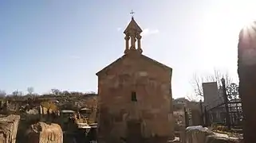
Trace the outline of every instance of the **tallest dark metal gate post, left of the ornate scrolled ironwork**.
<instances>
[{"instance_id":1,"label":"tallest dark metal gate post, left of the ornate scrolled ironwork","mask_svg":"<svg viewBox=\"0 0 256 143\"><path fill-rule=\"evenodd\" d=\"M226 95L226 83L225 83L225 79L221 79L222 83L223 83L223 98L224 98L224 103L225 103L225 110L226 110L226 126L227 129L231 129L230 127L230 110L228 107L228 99L227 99L227 95Z\"/></svg>"}]
</instances>

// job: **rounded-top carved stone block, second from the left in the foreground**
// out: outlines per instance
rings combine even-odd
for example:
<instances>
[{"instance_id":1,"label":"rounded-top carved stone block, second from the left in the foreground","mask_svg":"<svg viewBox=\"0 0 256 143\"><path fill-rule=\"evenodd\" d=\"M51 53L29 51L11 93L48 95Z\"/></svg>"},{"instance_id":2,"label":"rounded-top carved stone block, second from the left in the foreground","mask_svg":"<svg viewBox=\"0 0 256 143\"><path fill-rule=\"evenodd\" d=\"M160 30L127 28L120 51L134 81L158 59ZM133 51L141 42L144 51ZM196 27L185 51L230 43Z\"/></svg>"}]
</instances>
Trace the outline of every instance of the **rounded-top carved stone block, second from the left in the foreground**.
<instances>
[{"instance_id":1,"label":"rounded-top carved stone block, second from the left in the foreground","mask_svg":"<svg viewBox=\"0 0 256 143\"><path fill-rule=\"evenodd\" d=\"M27 136L30 143L62 143L63 133L61 126L37 122L30 126Z\"/></svg>"}]
</instances>

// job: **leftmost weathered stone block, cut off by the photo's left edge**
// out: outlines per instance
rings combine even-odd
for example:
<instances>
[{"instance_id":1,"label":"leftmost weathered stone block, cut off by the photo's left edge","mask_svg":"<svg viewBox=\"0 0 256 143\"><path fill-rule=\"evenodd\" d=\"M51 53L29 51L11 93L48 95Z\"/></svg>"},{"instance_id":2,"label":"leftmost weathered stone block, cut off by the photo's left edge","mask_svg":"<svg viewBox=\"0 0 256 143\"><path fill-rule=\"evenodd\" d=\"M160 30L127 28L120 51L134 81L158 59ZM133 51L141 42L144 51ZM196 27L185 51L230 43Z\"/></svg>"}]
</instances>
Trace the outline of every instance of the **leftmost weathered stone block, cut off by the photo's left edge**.
<instances>
[{"instance_id":1,"label":"leftmost weathered stone block, cut off by the photo's left edge","mask_svg":"<svg viewBox=\"0 0 256 143\"><path fill-rule=\"evenodd\" d=\"M19 121L19 115L0 115L0 143L16 142Z\"/></svg>"}]
</instances>

